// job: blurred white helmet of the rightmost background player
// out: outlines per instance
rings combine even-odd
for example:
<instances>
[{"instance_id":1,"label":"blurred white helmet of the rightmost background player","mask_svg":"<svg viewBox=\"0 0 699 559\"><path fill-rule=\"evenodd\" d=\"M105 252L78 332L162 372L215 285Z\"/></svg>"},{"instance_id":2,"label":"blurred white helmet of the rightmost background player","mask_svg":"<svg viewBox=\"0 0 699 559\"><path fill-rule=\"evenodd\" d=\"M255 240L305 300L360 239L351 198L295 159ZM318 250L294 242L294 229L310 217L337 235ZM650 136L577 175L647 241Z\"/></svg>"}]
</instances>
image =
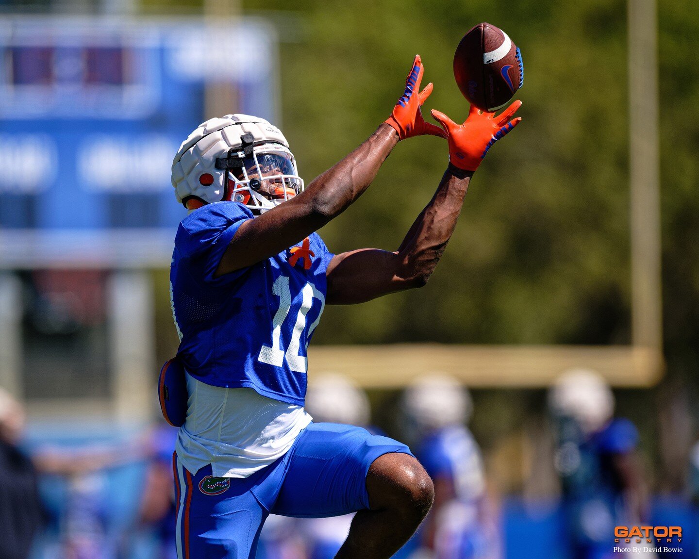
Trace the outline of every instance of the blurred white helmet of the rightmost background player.
<instances>
[{"instance_id":1,"label":"blurred white helmet of the rightmost background player","mask_svg":"<svg viewBox=\"0 0 699 559\"><path fill-rule=\"evenodd\" d=\"M556 415L575 419L585 433L594 433L612 419L614 394L597 372L570 369L549 391L549 407Z\"/></svg>"}]
</instances>

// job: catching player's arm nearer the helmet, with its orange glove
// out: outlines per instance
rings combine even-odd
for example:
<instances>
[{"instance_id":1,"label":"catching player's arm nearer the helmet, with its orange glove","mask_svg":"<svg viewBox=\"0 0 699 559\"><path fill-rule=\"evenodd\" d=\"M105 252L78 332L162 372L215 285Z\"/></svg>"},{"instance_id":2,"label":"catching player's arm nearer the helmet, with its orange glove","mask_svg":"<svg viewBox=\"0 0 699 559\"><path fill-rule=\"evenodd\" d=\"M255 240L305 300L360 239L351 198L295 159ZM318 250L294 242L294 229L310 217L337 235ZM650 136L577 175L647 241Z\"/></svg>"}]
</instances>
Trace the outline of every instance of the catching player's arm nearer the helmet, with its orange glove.
<instances>
[{"instance_id":1,"label":"catching player's arm nearer the helmet, with its orange glove","mask_svg":"<svg viewBox=\"0 0 699 559\"><path fill-rule=\"evenodd\" d=\"M419 92L423 73L417 56L403 96L368 140L316 177L298 196L243 223L224 252L216 275L251 266L296 245L340 215L368 188L399 140L422 134L446 137L442 129L422 118L420 106L432 92L432 84Z\"/></svg>"}]
</instances>

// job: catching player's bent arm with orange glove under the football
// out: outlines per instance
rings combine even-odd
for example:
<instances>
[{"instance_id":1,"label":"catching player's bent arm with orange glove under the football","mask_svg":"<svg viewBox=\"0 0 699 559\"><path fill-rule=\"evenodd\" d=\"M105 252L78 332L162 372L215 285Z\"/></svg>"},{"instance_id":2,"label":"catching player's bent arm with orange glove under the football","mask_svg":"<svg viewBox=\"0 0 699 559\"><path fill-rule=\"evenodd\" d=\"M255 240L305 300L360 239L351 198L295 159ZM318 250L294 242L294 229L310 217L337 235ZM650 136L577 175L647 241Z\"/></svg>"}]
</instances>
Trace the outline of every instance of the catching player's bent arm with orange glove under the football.
<instances>
[{"instance_id":1,"label":"catching player's bent arm with orange glove under the football","mask_svg":"<svg viewBox=\"0 0 699 559\"><path fill-rule=\"evenodd\" d=\"M510 121L519 106L515 101L497 117L471 108L461 125L432 112L449 140L449 167L437 191L396 252L360 249L333 256L327 271L327 303L362 303L426 284L454 233L473 173L493 143L519 124L519 118Z\"/></svg>"}]
</instances>

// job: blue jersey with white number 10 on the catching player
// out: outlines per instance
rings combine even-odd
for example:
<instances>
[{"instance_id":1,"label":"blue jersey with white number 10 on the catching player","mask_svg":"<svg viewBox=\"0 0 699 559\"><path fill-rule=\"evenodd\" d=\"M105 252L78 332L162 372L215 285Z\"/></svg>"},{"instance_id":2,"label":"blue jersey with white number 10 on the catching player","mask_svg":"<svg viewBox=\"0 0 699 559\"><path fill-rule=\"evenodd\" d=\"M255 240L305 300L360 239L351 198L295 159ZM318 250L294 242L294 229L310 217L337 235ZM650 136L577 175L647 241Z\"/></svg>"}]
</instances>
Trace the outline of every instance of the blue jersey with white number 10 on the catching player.
<instances>
[{"instance_id":1,"label":"blue jersey with white number 10 on the catching player","mask_svg":"<svg viewBox=\"0 0 699 559\"><path fill-rule=\"evenodd\" d=\"M271 258L215 277L246 219L253 216L245 205L226 201L180 223L170 271L178 356L206 384L303 405L306 349L323 312L333 255L312 233Z\"/></svg>"}]
</instances>

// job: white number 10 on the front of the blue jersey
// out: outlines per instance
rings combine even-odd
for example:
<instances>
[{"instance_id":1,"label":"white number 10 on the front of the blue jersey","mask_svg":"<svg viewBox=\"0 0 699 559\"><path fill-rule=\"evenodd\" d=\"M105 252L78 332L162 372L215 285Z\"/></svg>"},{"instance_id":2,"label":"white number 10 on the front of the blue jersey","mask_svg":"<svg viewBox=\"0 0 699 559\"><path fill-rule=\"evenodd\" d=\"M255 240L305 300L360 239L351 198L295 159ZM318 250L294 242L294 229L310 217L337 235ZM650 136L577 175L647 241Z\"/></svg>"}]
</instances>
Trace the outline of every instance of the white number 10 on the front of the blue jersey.
<instances>
[{"instance_id":1,"label":"white number 10 on the front of the blue jersey","mask_svg":"<svg viewBox=\"0 0 699 559\"><path fill-rule=\"evenodd\" d=\"M305 330L306 314L308 314L310 307L313 305L314 298L320 301L320 311L318 312L317 319L315 319L313 324L308 328L306 340L310 338L315 327L318 326L320 316L323 314L323 309L325 307L325 297L312 283L308 282L305 284L303 289L301 289L303 298L301 301L301 308L298 309L298 314L296 314L296 323L291 330L291 340L282 340L282 326L287 320L287 315L289 314L289 310L291 310L291 303L293 303L291 300L291 290L289 289L289 278L280 275L275 279L275 282L272 284L272 293L279 297L279 308L272 319L272 347L263 345L260 349L259 356L257 356L257 360L261 363L281 367L284 364L284 359L286 359L287 365L289 365L289 369L292 371L308 372L308 362L306 361L305 355L301 355L301 334ZM286 349L283 347L285 343L287 343ZM306 347L303 348L304 354L305 350L308 349L308 341L305 345Z\"/></svg>"}]
</instances>

